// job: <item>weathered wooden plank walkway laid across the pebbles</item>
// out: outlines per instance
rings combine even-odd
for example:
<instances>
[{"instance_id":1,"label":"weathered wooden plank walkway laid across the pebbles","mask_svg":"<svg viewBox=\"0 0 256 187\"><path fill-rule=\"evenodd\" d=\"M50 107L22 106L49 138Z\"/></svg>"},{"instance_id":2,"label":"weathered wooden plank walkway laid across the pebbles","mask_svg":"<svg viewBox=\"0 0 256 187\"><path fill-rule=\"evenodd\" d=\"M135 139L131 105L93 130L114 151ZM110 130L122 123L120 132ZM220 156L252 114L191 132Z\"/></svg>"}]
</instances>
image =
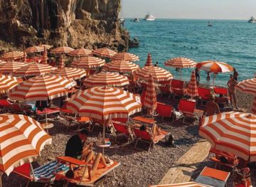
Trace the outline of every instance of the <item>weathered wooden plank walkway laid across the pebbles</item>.
<instances>
[{"instance_id":1,"label":"weathered wooden plank walkway laid across the pebbles","mask_svg":"<svg viewBox=\"0 0 256 187\"><path fill-rule=\"evenodd\" d=\"M198 141L169 169L159 184L184 183L191 179L196 167L206 159L210 150L210 143L206 140Z\"/></svg>"}]
</instances>

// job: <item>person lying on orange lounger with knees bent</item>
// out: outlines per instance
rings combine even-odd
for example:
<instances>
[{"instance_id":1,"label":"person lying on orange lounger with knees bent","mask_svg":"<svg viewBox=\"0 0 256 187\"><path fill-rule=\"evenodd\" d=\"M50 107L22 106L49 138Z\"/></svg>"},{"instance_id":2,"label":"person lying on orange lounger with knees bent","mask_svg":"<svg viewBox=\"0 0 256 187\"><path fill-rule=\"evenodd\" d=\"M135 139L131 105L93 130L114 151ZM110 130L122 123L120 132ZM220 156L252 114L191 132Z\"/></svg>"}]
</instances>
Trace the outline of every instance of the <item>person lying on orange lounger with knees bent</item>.
<instances>
[{"instance_id":1,"label":"person lying on orange lounger with knees bent","mask_svg":"<svg viewBox=\"0 0 256 187\"><path fill-rule=\"evenodd\" d=\"M92 176L97 171L97 168L99 164L103 164L104 168L109 166L110 164L107 164L104 156L102 156L101 153L97 154L96 158L93 161L92 167L88 169L88 167L85 169L85 174L82 178L82 181L90 181L92 179ZM80 181L80 177L82 177L84 173L84 169L74 170L72 166L70 166L70 170L65 173L65 176L74 180Z\"/></svg>"}]
</instances>

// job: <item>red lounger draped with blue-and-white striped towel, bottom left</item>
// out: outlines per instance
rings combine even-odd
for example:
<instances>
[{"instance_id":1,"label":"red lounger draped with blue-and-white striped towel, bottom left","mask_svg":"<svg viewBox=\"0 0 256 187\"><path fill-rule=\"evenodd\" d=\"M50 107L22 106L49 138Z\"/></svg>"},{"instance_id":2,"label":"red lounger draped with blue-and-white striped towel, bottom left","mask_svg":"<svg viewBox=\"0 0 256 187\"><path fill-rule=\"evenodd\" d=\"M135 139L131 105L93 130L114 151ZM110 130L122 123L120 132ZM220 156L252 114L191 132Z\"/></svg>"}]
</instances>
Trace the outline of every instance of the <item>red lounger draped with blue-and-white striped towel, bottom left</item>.
<instances>
[{"instance_id":1,"label":"red lounger draped with blue-and-white striped towel, bottom left","mask_svg":"<svg viewBox=\"0 0 256 187\"><path fill-rule=\"evenodd\" d=\"M56 173L65 173L68 169L69 167L65 164L61 164L58 161L51 161L36 169L32 169L31 164L26 163L14 169L14 173L28 179L28 186L31 181L38 183L53 183Z\"/></svg>"}]
</instances>

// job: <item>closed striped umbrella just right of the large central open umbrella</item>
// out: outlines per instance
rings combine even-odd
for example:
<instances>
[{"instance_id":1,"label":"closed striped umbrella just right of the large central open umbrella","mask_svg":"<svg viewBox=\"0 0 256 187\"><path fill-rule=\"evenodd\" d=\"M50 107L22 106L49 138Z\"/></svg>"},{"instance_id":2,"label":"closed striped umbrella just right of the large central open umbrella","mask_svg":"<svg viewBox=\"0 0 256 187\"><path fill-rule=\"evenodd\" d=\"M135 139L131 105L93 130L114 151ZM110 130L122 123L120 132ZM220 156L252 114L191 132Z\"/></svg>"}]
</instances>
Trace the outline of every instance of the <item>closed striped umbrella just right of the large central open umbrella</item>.
<instances>
[{"instance_id":1,"label":"closed striped umbrella just right of the large central open umbrella","mask_svg":"<svg viewBox=\"0 0 256 187\"><path fill-rule=\"evenodd\" d=\"M154 80L152 75L149 75L149 80L146 85L146 93L145 93L145 98L144 102L142 105L148 109L150 109L150 112L154 112L156 109L156 90L154 87Z\"/></svg>"}]
</instances>

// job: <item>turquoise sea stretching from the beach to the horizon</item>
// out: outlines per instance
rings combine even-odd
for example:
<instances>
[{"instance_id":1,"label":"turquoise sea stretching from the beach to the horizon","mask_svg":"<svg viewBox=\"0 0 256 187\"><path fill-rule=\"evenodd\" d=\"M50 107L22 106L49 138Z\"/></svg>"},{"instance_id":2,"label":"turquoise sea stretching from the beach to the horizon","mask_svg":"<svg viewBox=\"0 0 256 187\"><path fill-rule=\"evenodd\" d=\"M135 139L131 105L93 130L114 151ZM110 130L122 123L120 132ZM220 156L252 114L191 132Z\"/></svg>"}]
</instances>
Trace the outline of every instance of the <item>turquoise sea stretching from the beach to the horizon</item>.
<instances>
[{"instance_id":1,"label":"turquoise sea stretching from the beach to the horizon","mask_svg":"<svg viewBox=\"0 0 256 187\"><path fill-rule=\"evenodd\" d=\"M256 73L256 23L237 20L156 19L139 23L126 18L124 27L132 38L140 41L139 48L130 48L129 53L139 55L137 64L143 66L150 52L154 63L171 71L179 78L174 68L164 67L169 58L186 57L201 62L219 60L238 70L238 80L253 78ZM191 68L183 69L183 80L189 80ZM219 73L215 81L226 85L230 73ZM206 72L201 71L201 82L206 82Z\"/></svg>"}]
</instances>

